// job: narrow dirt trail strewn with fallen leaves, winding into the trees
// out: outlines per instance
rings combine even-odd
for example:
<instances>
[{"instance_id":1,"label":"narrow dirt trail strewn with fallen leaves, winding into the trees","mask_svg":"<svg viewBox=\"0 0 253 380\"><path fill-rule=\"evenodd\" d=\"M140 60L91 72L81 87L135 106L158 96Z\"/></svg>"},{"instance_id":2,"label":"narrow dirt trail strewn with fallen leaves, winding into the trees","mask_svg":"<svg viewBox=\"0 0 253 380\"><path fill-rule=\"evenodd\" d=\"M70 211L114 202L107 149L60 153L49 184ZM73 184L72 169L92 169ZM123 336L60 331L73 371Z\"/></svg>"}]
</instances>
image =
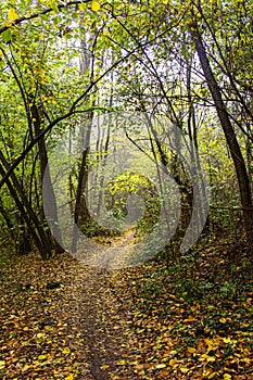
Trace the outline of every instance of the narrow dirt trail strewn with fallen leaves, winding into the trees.
<instances>
[{"instance_id":1,"label":"narrow dirt trail strewn with fallen leaves, winding into the trees","mask_svg":"<svg viewBox=\"0 0 253 380\"><path fill-rule=\"evenodd\" d=\"M79 330L90 370L86 380L139 379L130 366L122 373L123 366L118 365L130 359L127 339L131 318L128 319L127 306L115 282L115 271L110 270L126 268L135 233L132 228L121 237L104 238L103 245L99 242L98 251L91 250L90 254L86 245L85 258L80 252L75 289L79 297Z\"/></svg>"}]
</instances>

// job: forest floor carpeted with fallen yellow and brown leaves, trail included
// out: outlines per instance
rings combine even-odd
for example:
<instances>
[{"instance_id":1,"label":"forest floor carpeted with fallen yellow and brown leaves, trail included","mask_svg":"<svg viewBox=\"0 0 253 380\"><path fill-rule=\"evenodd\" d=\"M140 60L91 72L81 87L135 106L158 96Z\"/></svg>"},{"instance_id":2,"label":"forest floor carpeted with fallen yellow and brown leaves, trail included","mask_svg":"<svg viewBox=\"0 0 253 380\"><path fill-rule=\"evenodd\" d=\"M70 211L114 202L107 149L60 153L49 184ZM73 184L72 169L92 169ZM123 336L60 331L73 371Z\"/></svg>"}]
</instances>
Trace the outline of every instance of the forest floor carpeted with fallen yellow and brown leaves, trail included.
<instances>
[{"instance_id":1,"label":"forest floor carpeted with fallen yellow and brown leaves, trail included","mask_svg":"<svg viewBox=\"0 0 253 380\"><path fill-rule=\"evenodd\" d=\"M2 257L0 379L253 379L252 263L238 250L122 270Z\"/></svg>"}]
</instances>

